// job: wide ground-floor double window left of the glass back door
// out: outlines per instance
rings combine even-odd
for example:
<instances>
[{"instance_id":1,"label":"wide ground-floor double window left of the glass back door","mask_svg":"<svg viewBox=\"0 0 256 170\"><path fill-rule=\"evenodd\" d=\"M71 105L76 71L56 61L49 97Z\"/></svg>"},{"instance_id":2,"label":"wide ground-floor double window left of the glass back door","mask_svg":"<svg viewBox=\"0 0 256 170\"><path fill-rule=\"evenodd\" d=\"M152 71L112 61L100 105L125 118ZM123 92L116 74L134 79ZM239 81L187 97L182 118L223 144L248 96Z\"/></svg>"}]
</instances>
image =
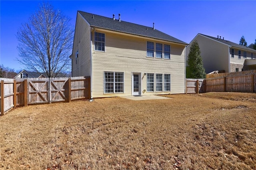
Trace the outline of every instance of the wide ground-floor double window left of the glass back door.
<instances>
[{"instance_id":1,"label":"wide ground-floor double window left of the glass back door","mask_svg":"<svg viewBox=\"0 0 256 170\"><path fill-rule=\"evenodd\" d=\"M124 93L123 72L104 72L104 93Z\"/></svg>"}]
</instances>

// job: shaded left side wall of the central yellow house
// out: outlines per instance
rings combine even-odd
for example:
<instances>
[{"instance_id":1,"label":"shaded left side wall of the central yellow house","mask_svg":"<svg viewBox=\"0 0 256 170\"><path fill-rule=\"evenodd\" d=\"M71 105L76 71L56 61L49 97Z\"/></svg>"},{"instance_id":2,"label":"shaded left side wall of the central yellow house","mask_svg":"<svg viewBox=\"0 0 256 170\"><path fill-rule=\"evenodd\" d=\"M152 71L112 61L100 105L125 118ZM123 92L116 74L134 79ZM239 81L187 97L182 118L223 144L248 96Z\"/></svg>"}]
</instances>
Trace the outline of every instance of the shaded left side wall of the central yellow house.
<instances>
[{"instance_id":1,"label":"shaded left side wall of the central yellow house","mask_svg":"<svg viewBox=\"0 0 256 170\"><path fill-rule=\"evenodd\" d=\"M90 26L78 13L72 53L72 76L90 76ZM76 63L76 52L78 58Z\"/></svg>"}]
</instances>

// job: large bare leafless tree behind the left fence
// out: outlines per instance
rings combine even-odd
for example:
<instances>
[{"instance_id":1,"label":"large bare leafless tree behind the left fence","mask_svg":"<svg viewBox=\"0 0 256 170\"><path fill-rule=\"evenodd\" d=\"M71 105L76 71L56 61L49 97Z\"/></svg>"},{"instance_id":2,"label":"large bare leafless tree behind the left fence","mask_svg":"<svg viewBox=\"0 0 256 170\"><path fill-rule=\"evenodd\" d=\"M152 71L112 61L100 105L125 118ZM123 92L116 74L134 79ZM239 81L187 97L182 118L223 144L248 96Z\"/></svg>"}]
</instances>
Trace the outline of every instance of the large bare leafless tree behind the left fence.
<instances>
[{"instance_id":1,"label":"large bare leafless tree behind the left fence","mask_svg":"<svg viewBox=\"0 0 256 170\"><path fill-rule=\"evenodd\" d=\"M50 4L42 4L18 30L18 61L27 69L48 77L70 70L74 28L70 18Z\"/></svg>"}]
</instances>

